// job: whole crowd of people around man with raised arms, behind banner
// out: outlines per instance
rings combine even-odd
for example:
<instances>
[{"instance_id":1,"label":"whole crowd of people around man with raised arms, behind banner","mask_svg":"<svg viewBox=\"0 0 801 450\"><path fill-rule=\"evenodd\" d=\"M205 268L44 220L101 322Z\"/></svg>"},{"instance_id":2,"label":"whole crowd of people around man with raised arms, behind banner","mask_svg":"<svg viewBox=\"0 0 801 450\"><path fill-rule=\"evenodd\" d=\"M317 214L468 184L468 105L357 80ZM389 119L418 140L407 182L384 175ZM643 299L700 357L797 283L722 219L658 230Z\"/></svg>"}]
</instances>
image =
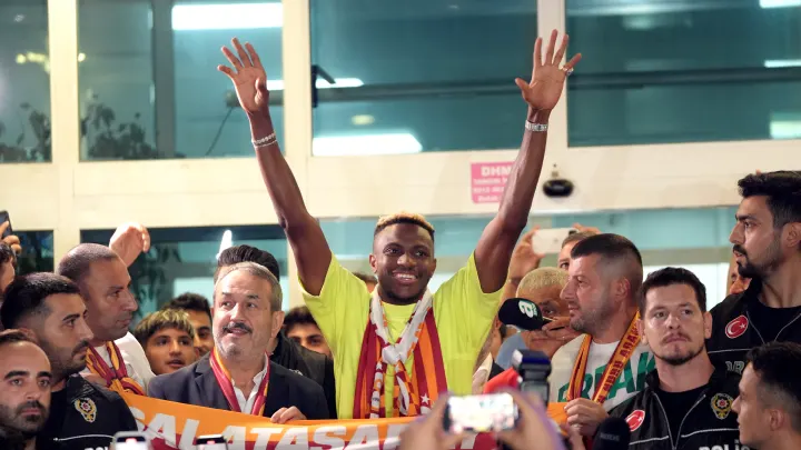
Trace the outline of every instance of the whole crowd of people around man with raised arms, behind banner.
<instances>
[{"instance_id":1,"label":"whole crowd of people around man with raised arms, behind banner","mask_svg":"<svg viewBox=\"0 0 801 450\"><path fill-rule=\"evenodd\" d=\"M497 438L514 450L561 449L545 402L564 403L562 431L591 444L610 417L630 447L763 450L801 446L801 174L748 174L730 241L730 296L711 310L695 274L665 268L643 279L623 236L576 224L557 267L540 267L523 234L545 154L551 110L580 56L567 37L537 39L523 143L497 214L465 266L436 291L435 229L419 214L378 220L369 264L353 273L306 209L277 144L266 73L253 46L222 48L251 128L256 159L298 268L305 307L281 310L269 252L218 256L210 299L181 294L134 323L128 267L147 229L122 224L108 246L82 243L55 273L14 277L19 240L0 244L0 447L108 448L137 430L120 393L269 418L424 416L404 449L448 449L451 396L510 392L520 419ZM734 189L735 187L732 187ZM688 230L691 232L691 230ZM686 231L683 231L686 232ZM517 330L497 316L511 299L550 319ZM550 360L547 399L520 392L515 350ZM99 412L102 411L102 412Z\"/></svg>"}]
</instances>

